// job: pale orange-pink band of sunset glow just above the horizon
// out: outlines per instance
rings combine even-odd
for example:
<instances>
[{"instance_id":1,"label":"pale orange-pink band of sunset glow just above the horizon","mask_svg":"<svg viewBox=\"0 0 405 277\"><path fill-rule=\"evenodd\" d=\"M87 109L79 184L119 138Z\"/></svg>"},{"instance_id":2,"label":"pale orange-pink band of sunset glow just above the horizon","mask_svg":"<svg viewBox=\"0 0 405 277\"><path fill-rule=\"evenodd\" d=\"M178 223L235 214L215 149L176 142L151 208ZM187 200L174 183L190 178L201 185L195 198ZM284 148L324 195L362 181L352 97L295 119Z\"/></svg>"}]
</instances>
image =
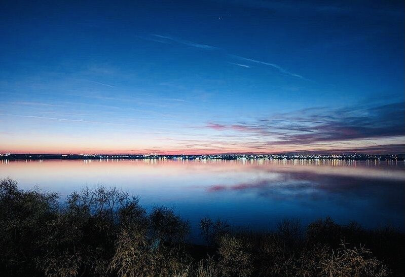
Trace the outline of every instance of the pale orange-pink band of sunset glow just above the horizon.
<instances>
[{"instance_id":1,"label":"pale orange-pink band of sunset glow just above the horizon","mask_svg":"<svg viewBox=\"0 0 405 277\"><path fill-rule=\"evenodd\" d=\"M58 140L62 141L62 140ZM63 139L65 141L65 139ZM335 141L325 143L313 143L308 145L287 145L277 144L270 145L266 148L261 147L246 147L243 143L229 146L223 142L208 142L204 141L205 145L212 147L198 148L199 142L194 143L196 147L189 145L188 147L181 146L181 140L169 141L166 145L165 142L157 142L159 146L154 147L152 144L156 141L133 142L134 145L139 147L131 147L128 142L120 142L117 140L115 144L108 142L103 144L102 141L94 141L93 144L84 141L65 142L56 144L49 142L48 144L40 142L25 142L21 140L6 141L0 146L0 153L31 153L31 154L158 154L158 155L202 155L202 154L238 154L238 153L251 153L251 154L281 154L281 153L342 153L342 152L358 152L369 154L393 154L403 151L405 144L405 136L396 136L388 138L380 138L376 140L347 140ZM398 144L399 143L399 144ZM402 144L401 144L402 143ZM22 146L23 145L23 146ZM83 145L83 147L78 146ZM118 147L121 145L121 147ZM170 146L169 146L170 145ZM217 145L216 148L213 146ZM377 145L377 147L376 147ZM373 148L375 147L375 148ZM384 147L388 147L384 150Z\"/></svg>"}]
</instances>

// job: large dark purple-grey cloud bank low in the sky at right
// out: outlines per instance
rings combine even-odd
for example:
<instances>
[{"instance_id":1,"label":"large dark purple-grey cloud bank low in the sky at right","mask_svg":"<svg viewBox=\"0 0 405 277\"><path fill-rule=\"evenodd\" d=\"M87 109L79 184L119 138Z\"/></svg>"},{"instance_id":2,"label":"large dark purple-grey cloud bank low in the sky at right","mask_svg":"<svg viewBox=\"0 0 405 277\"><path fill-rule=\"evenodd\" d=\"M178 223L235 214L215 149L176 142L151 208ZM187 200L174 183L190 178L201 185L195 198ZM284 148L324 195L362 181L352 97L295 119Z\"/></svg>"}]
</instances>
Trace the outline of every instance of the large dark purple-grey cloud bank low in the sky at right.
<instances>
[{"instance_id":1,"label":"large dark purple-grey cloud bank low in the sky at right","mask_svg":"<svg viewBox=\"0 0 405 277\"><path fill-rule=\"evenodd\" d=\"M209 122L205 128L222 131L220 135L224 138L241 133L250 140L245 145L254 149L288 146L315 151L316 147L322 146L329 149L328 152L344 148L385 152L400 150L405 144L404 114L403 102L399 102L382 106L306 109L252 122ZM390 148L390 145L393 146Z\"/></svg>"}]
</instances>

